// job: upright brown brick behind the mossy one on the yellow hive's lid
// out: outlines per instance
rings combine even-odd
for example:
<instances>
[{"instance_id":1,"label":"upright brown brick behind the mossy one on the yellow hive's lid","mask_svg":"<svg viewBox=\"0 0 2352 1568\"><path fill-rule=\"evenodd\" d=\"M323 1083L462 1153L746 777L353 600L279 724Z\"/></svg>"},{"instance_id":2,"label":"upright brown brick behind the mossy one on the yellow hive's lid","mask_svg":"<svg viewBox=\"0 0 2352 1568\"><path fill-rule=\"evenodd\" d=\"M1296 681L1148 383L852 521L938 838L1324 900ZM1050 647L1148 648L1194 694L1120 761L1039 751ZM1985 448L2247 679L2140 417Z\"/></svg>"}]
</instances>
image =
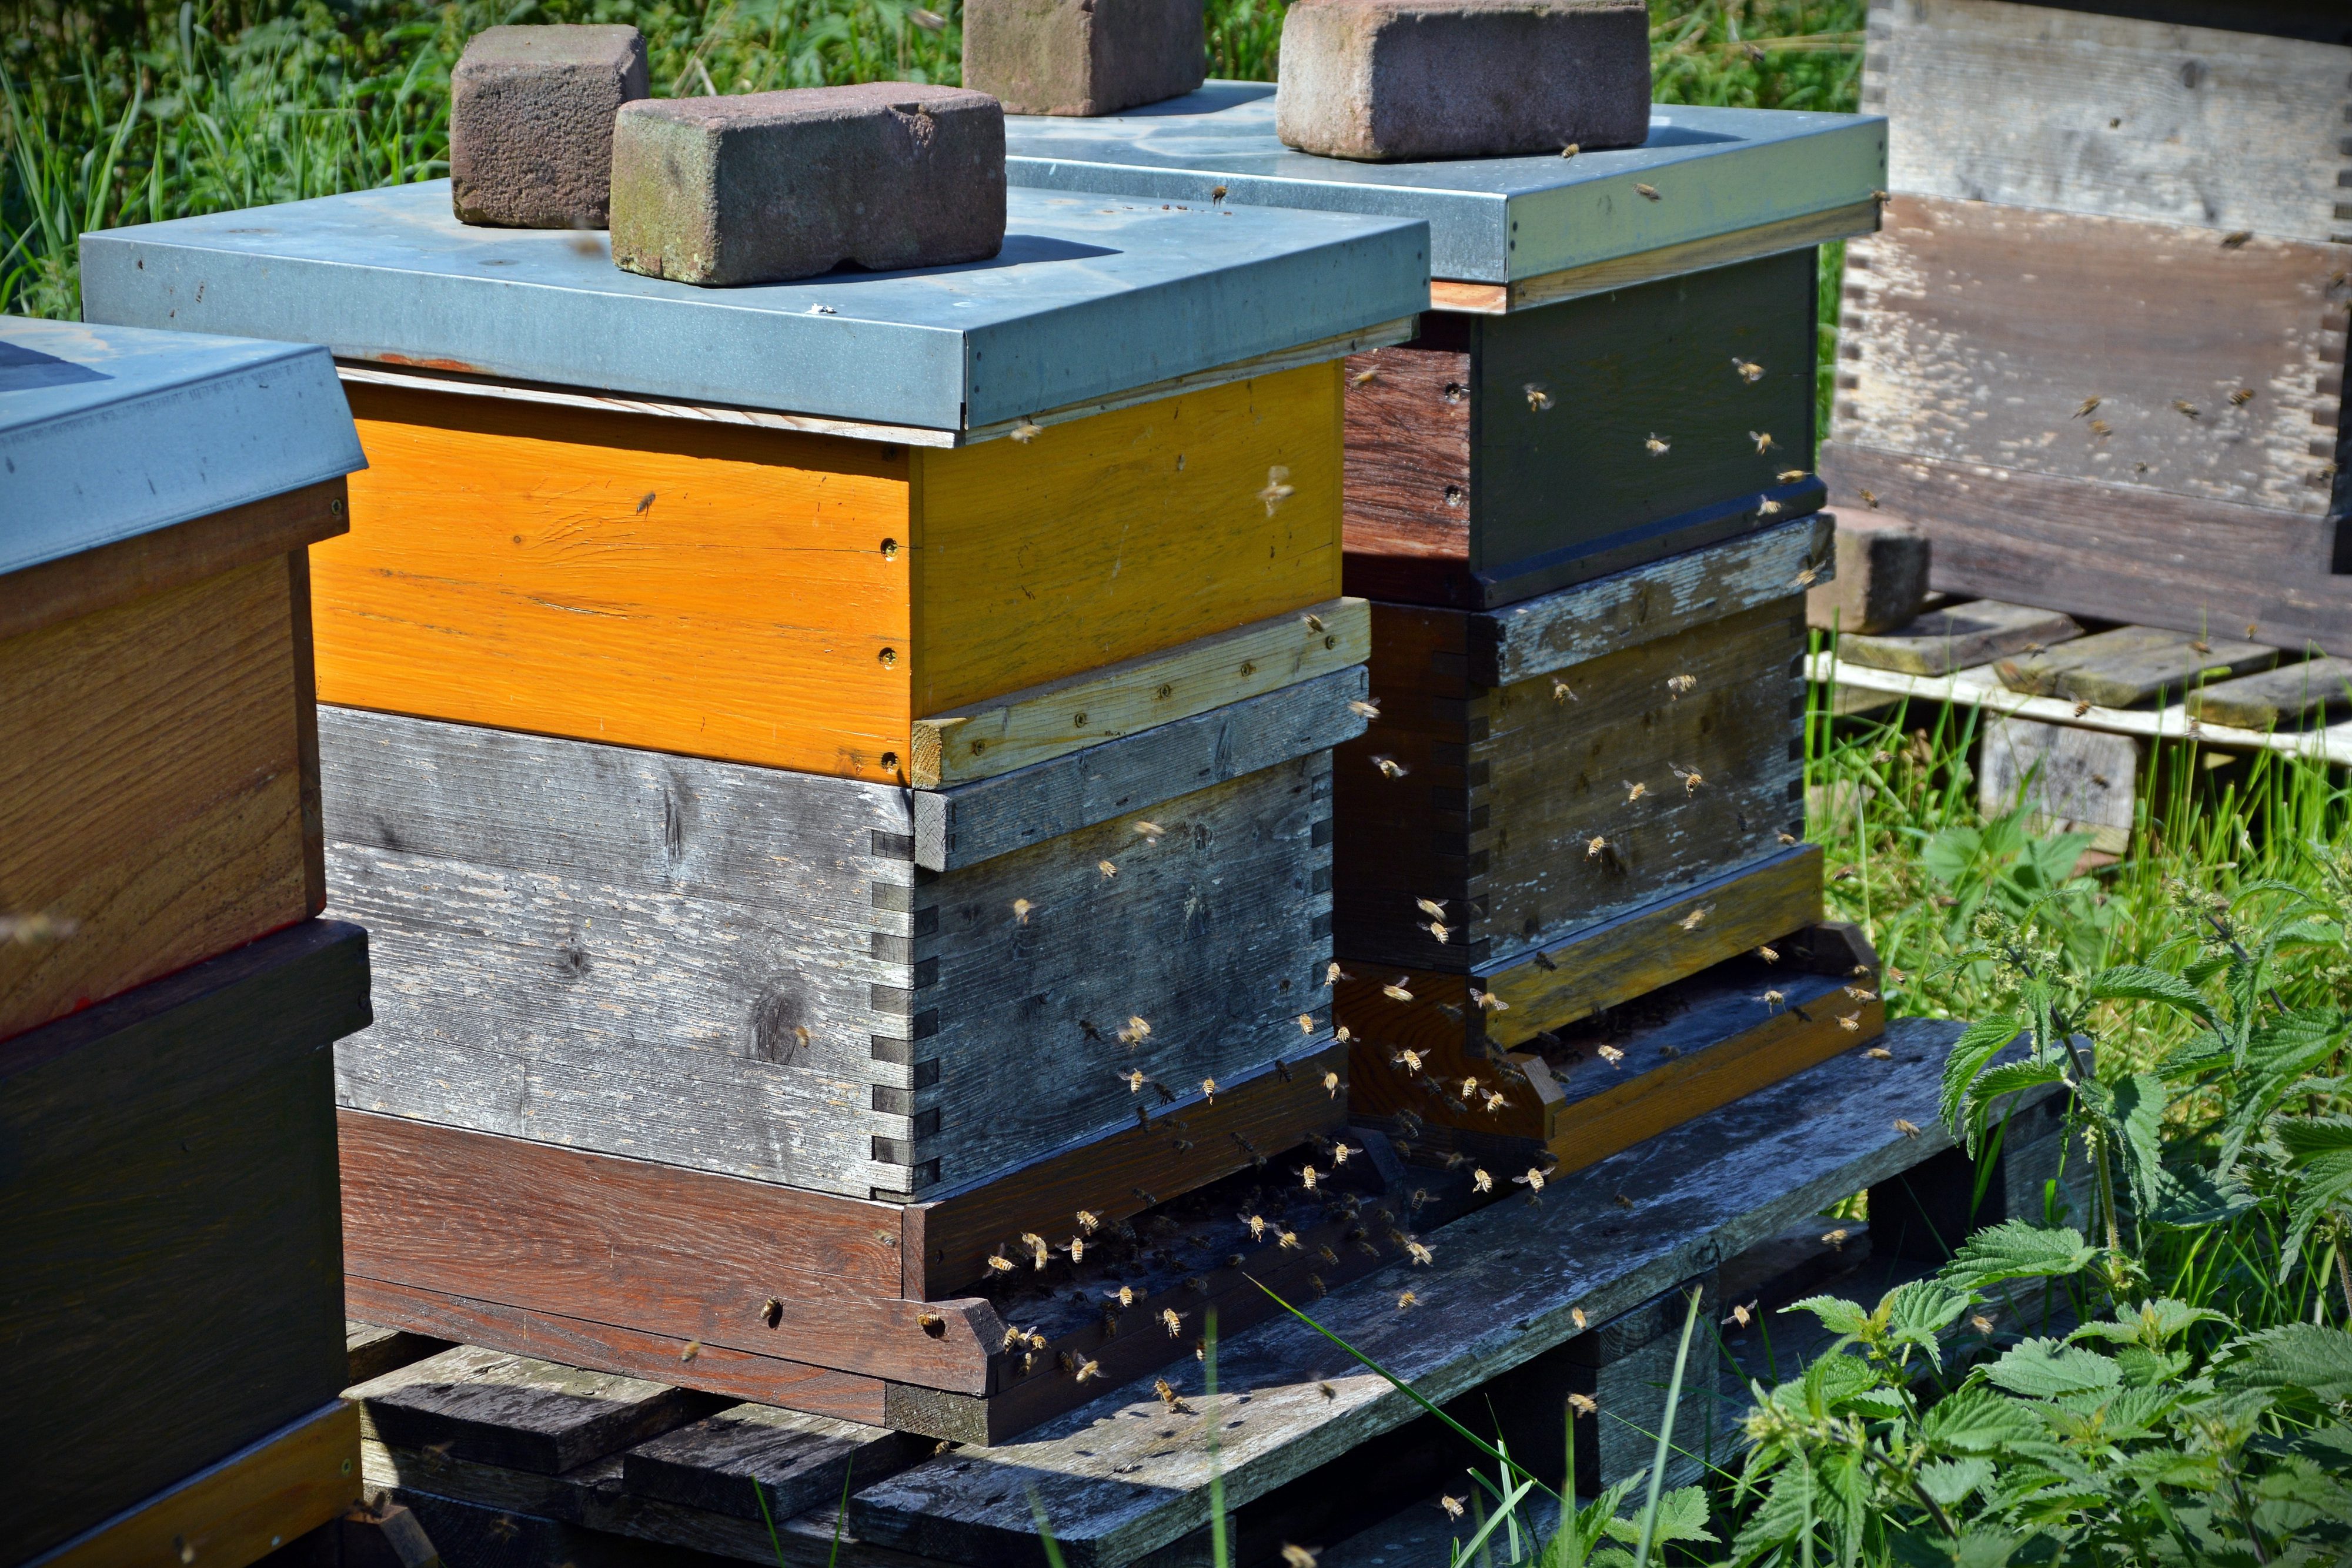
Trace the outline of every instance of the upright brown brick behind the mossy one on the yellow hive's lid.
<instances>
[{"instance_id":1,"label":"upright brown brick behind the mossy one on the yellow hive's lid","mask_svg":"<svg viewBox=\"0 0 2352 1568\"><path fill-rule=\"evenodd\" d=\"M604 228L612 118L647 92L637 28L475 33L449 73L449 200L459 221Z\"/></svg>"}]
</instances>

